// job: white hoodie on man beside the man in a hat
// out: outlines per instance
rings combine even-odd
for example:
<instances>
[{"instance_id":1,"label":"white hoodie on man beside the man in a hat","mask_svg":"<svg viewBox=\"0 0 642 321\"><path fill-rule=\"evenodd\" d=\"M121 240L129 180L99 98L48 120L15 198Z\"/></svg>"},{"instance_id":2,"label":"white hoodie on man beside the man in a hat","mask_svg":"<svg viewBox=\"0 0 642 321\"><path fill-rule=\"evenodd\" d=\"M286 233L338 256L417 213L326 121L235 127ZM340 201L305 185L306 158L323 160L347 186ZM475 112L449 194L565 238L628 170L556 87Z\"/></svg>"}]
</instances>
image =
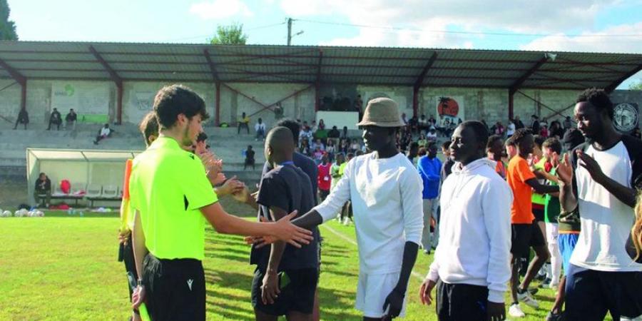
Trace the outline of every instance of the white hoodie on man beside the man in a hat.
<instances>
[{"instance_id":1,"label":"white hoodie on man beside the man in a hat","mask_svg":"<svg viewBox=\"0 0 642 321\"><path fill-rule=\"evenodd\" d=\"M511 277L509 185L488 158L455 163L444 181L439 245L427 278L488 287L488 300L504 302Z\"/></svg>"}]
</instances>

